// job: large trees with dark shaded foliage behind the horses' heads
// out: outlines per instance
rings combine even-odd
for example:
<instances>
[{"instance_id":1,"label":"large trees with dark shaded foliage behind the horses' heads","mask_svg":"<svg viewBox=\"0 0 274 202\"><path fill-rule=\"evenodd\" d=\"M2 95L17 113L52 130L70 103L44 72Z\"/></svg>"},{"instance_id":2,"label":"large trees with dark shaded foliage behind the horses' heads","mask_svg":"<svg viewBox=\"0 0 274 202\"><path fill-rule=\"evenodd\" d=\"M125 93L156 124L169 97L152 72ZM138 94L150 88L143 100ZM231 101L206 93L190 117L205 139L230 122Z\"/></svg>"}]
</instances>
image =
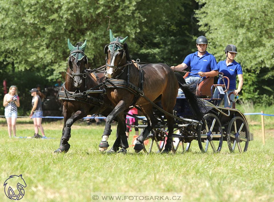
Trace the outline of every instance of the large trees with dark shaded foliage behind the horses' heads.
<instances>
[{"instance_id":1,"label":"large trees with dark shaded foliage behind the horses' heads","mask_svg":"<svg viewBox=\"0 0 274 202\"><path fill-rule=\"evenodd\" d=\"M105 64L106 15L112 18L114 36L128 36L132 58L142 62L163 61L126 30L170 65L193 51L198 33L194 0L0 0L0 5L0 68L9 86L20 84L21 93L28 93L30 85L45 86L45 80L53 84L61 78L67 69L68 38L73 45L87 39L91 68ZM15 72L18 77L13 77Z\"/></svg>"}]
</instances>

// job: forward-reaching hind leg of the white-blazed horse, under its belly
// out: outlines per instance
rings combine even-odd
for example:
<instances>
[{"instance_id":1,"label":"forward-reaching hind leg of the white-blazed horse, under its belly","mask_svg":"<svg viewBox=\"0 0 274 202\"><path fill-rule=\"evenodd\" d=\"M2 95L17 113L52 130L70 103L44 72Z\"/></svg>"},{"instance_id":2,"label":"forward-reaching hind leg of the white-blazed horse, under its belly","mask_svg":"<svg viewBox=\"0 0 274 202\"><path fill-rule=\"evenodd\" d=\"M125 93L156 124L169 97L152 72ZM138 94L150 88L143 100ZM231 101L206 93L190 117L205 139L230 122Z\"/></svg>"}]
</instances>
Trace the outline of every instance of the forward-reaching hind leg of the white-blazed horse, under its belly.
<instances>
[{"instance_id":1,"label":"forward-reaching hind leg of the white-blazed horse, under its belly","mask_svg":"<svg viewBox=\"0 0 274 202\"><path fill-rule=\"evenodd\" d=\"M154 128L154 126L156 125L156 118L153 114L153 110L152 110L152 105L151 104L146 104L146 105L142 105L140 106L144 115L146 116L147 120L148 120L148 126L143 130L143 132L138 136L137 138L137 142L134 146L134 150L136 150L135 152L139 152L142 149L144 149L144 146L142 145L146 139L146 137L148 136L148 134L150 133L150 131Z\"/></svg>"}]
</instances>

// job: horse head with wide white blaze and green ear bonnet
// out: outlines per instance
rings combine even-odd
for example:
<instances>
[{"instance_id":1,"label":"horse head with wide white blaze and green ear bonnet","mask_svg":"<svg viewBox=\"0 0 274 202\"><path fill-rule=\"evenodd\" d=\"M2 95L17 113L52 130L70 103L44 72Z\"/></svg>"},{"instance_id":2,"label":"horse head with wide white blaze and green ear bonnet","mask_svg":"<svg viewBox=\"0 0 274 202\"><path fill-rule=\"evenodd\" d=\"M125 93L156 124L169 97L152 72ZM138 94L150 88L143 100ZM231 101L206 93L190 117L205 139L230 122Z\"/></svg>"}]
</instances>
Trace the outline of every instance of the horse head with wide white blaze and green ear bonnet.
<instances>
[{"instance_id":1,"label":"horse head with wide white blaze and green ear bonnet","mask_svg":"<svg viewBox=\"0 0 274 202\"><path fill-rule=\"evenodd\" d=\"M109 30L109 39L110 43L104 48L104 53L106 54L106 71L104 75L108 78L113 78L119 74L117 69L126 64L127 60L130 61L130 56L126 44L128 37L115 38L112 31Z\"/></svg>"}]
</instances>

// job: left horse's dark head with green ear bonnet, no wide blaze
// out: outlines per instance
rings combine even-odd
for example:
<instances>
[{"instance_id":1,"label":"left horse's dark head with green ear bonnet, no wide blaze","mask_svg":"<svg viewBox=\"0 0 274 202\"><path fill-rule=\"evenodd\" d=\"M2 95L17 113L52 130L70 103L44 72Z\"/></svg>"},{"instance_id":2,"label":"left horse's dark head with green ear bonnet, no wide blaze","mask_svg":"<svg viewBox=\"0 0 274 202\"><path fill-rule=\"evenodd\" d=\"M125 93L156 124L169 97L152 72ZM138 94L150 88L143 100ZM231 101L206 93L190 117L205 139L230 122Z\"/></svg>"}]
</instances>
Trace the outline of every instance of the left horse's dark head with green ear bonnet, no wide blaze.
<instances>
[{"instance_id":1,"label":"left horse's dark head with green ear bonnet, no wide blaze","mask_svg":"<svg viewBox=\"0 0 274 202\"><path fill-rule=\"evenodd\" d=\"M68 49L70 55L68 57L68 69L67 74L74 80L75 88L79 88L83 82L83 78L86 78L86 66L88 58L84 53L86 49L86 41L78 42L76 46L73 46L68 39Z\"/></svg>"}]
</instances>

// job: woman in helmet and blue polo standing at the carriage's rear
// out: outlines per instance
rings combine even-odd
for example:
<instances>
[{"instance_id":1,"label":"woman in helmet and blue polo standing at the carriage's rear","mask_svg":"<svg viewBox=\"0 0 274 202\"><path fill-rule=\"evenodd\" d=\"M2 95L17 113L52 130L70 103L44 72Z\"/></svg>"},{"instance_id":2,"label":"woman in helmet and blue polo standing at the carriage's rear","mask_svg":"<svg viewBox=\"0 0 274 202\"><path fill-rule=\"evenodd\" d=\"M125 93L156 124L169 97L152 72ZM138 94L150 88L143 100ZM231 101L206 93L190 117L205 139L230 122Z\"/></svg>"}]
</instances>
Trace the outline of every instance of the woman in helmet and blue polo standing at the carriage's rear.
<instances>
[{"instance_id":1,"label":"woman in helmet and blue polo standing at the carriage's rear","mask_svg":"<svg viewBox=\"0 0 274 202\"><path fill-rule=\"evenodd\" d=\"M227 93L229 94L230 92L233 92L233 94L230 95L230 100L234 100L235 95L238 95L243 87L242 67L238 62L234 60L236 53L238 52L235 45L233 44L227 45L225 48L226 60L220 61L217 64L219 72L223 72L224 76L227 76L229 78L230 83L229 83L229 90L227 91ZM239 78L239 84L237 89L236 89L236 75L238 75L238 78ZM224 80L225 80L225 85L227 86L227 79L224 79ZM223 80L219 79L218 84L223 84ZM218 93L219 91L216 88L213 94L213 98L218 98ZM218 101L218 106L220 105L221 101L224 100L224 106L231 108L232 103L230 103L230 105L228 104L226 95L219 94L219 96L221 100Z\"/></svg>"}]
</instances>

